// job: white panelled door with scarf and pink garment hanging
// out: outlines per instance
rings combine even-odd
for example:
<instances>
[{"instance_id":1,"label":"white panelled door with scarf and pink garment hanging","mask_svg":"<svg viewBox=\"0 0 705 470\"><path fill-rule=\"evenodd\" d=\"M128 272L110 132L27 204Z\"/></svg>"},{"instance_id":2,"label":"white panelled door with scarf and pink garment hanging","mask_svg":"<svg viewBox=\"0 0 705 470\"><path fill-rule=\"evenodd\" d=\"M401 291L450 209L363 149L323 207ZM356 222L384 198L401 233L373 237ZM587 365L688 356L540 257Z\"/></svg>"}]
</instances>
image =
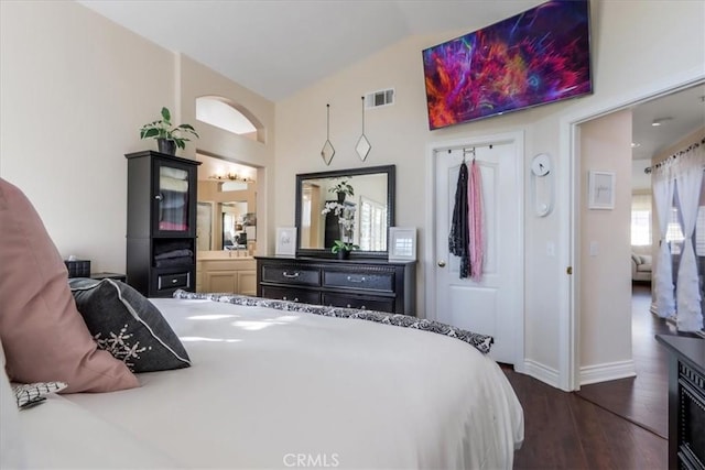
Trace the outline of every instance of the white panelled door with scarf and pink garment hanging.
<instances>
[{"instance_id":1,"label":"white panelled door with scarf and pink garment hanging","mask_svg":"<svg viewBox=\"0 0 705 470\"><path fill-rule=\"evenodd\" d=\"M492 336L490 357L523 363L523 134L506 134L431 147L434 227L426 298L438 321ZM459 277L459 258L449 253L459 168L479 167L484 263L479 280Z\"/></svg>"}]
</instances>

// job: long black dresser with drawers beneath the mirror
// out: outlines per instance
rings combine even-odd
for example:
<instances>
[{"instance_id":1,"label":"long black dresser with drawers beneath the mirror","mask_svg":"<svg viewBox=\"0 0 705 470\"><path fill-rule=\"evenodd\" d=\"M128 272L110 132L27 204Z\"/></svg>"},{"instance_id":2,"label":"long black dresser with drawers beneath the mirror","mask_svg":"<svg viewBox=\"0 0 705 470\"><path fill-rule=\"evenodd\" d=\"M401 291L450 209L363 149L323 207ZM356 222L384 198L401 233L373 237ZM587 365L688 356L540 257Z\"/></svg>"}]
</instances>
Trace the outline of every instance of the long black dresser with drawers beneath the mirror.
<instances>
[{"instance_id":1,"label":"long black dresser with drawers beneath the mirror","mask_svg":"<svg viewBox=\"0 0 705 470\"><path fill-rule=\"evenodd\" d=\"M415 262L256 259L260 297L416 315Z\"/></svg>"}]
</instances>

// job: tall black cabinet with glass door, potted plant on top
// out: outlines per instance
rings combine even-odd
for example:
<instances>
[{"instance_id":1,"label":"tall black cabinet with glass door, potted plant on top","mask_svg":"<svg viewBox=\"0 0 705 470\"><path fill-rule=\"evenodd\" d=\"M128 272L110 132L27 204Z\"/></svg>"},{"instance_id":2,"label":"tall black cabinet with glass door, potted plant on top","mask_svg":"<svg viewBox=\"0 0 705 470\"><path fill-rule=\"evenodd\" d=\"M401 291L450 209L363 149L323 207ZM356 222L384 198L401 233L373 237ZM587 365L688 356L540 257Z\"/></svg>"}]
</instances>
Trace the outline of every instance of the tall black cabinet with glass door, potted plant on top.
<instances>
[{"instance_id":1,"label":"tall black cabinet with glass door, potted plant on top","mask_svg":"<svg viewBox=\"0 0 705 470\"><path fill-rule=\"evenodd\" d=\"M196 287L200 162L144 151L128 159L127 281L148 297Z\"/></svg>"}]
</instances>

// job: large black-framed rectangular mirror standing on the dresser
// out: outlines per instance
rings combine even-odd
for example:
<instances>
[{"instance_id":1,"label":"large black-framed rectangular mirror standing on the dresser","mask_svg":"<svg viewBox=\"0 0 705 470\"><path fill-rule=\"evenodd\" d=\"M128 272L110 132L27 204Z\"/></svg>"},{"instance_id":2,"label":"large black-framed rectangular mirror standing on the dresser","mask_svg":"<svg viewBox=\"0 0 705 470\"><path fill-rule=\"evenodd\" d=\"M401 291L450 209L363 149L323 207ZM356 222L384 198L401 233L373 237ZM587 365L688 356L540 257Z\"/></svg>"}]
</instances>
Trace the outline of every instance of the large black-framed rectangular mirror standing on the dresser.
<instances>
[{"instance_id":1,"label":"large black-framed rectangular mirror standing on the dresser","mask_svg":"<svg viewBox=\"0 0 705 470\"><path fill-rule=\"evenodd\" d=\"M296 175L296 255L332 258L340 240L351 258L387 258L394 189L394 165Z\"/></svg>"}]
</instances>

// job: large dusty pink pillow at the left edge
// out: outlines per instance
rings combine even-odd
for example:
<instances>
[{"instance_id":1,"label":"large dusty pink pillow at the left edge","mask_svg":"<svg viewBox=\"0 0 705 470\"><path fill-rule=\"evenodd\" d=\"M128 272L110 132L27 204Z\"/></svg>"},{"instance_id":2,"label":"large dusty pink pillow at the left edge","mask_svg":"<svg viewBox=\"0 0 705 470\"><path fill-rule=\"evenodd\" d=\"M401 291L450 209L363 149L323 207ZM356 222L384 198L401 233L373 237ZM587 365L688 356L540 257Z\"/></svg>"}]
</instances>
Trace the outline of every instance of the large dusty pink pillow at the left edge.
<instances>
[{"instance_id":1,"label":"large dusty pink pillow at the left edge","mask_svg":"<svg viewBox=\"0 0 705 470\"><path fill-rule=\"evenodd\" d=\"M139 386L121 361L98 350L39 214L2 178L0 240L0 338L10 380L66 382L67 393Z\"/></svg>"}]
</instances>

